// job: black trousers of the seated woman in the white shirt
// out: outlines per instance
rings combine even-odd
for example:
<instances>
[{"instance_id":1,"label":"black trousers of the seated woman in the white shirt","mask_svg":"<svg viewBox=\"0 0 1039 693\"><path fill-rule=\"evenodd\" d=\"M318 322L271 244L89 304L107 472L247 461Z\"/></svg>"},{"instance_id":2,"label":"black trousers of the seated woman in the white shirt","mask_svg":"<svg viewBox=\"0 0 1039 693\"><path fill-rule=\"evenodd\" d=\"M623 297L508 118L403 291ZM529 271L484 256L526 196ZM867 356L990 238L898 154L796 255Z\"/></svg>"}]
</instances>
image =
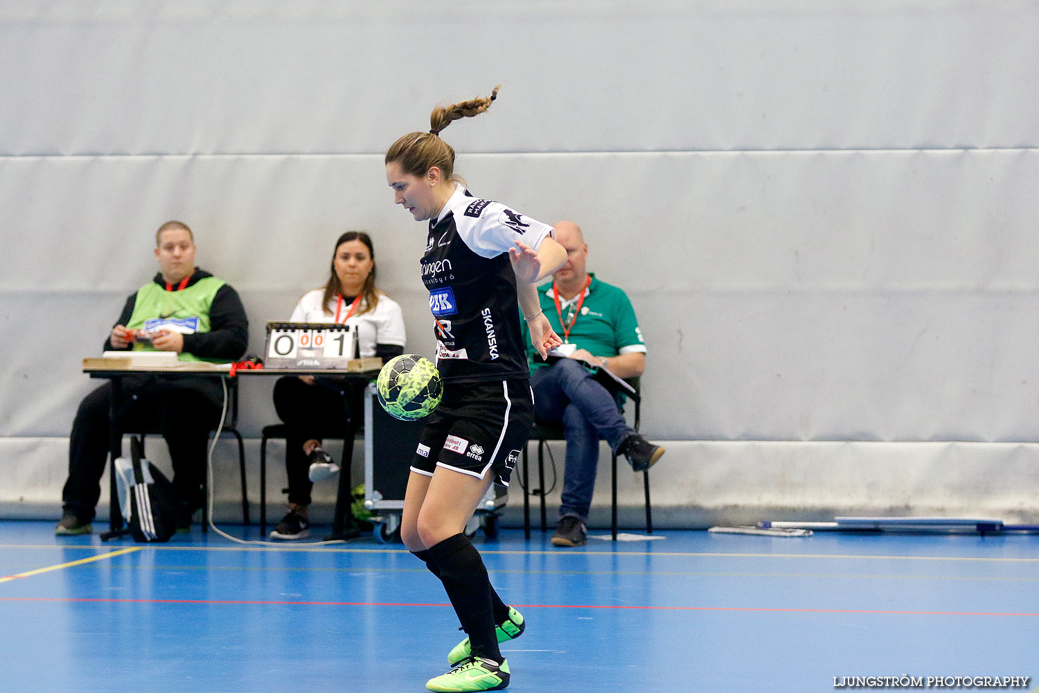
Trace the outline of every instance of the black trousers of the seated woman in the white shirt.
<instances>
[{"instance_id":1,"label":"black trousers of the seated woman in the white shirt","mask_svg":"<svg viewBox=\"0 0 1039 693\"><path fill-rule=\"evenodd\" d=\"M274 383L274 409L287 429L285 472L289 478L289 503L311 504L314 484L308 476L311 460L303 443L311 438L343 437L350 411L363 411L361 398L348 401L342 380L318 378L309 385L295 376ZM341 460L349 464L350 460Z\"/></svg>"}]
</instances>

